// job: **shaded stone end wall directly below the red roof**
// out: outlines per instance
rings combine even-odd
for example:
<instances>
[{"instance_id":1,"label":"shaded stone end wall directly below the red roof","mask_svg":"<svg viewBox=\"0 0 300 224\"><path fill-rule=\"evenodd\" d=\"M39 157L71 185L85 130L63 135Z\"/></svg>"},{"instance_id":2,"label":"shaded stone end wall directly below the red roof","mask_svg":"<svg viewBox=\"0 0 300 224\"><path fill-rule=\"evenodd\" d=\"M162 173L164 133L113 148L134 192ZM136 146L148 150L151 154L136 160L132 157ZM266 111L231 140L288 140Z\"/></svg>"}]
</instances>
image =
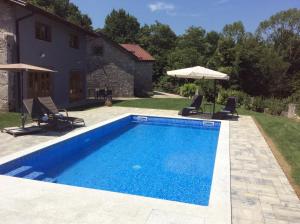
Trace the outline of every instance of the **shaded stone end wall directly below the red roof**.
<instances>
[{"instance_id":1,"label":"shaded stone end wall directly below the red roof","mask_svg":"<svg viewBox=\"0 0 300 224\"><path fill-rule=\"evenodd\" d=\"M147 96L152 92L153 62L136 62L134 94Z\"/></svg>"}]
</instances>

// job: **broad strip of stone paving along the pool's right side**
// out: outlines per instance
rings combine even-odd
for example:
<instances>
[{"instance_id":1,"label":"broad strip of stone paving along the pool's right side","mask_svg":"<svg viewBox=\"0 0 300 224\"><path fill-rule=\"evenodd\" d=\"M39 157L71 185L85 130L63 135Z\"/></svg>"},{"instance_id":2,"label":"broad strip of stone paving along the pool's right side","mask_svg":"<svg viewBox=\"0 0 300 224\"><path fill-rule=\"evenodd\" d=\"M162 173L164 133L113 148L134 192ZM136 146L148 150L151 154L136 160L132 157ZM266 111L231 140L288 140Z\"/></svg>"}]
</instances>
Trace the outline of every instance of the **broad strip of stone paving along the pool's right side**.
<instances>
[{"instance_id":1,"label":"broad strip of stone paving along the pool's right side","mask_svg":"<svg viewBox=\"0 0 300 224\"><path fill-rule=\"evenodd\" d=\"M251 117L230 122L233 223L300 223L300 201Z\"/></svg>"}]
</instances>

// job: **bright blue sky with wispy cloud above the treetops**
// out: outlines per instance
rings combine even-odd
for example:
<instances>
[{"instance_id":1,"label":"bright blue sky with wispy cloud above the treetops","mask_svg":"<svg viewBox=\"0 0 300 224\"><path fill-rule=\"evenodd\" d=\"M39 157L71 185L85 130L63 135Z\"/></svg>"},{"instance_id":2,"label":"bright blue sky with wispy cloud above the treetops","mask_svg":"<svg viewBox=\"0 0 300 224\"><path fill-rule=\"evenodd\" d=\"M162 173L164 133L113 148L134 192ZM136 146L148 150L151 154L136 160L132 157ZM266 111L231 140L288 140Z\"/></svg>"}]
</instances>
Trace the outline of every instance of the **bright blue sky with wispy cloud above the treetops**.
<instances>
[{"instance_id":1,"label":"bright blue sky with wispy cloud above the treetops","mask_svg":"<svg viewBox=\"0 0 300 224\"><path fill-rule=\"evenodd\" d=\"M253 32L260 21L274 13L300 8L300 0L71 0L102 28L112 9L124 8L138 18L141 25L155 20L169 24L177 33L189 26L221 31L225 24L241 20L247 31Z\"/></svg>"}]
</instances>

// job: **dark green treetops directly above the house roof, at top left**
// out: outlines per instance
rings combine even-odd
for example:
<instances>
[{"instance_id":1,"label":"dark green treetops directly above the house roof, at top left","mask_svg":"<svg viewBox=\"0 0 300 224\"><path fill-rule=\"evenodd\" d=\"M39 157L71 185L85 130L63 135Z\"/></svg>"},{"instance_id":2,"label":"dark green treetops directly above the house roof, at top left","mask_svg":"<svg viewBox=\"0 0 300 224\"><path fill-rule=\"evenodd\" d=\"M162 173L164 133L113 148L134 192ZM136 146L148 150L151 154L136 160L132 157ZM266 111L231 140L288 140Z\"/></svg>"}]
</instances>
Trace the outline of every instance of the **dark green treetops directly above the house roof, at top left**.
<instances>
[{"instance_id":1,"label":"dark green treetops directly above the house roof, at top left","mask_svg":"<svg viewBox=\"0 0 300 224\"><path fill-rule=\"evenodd\" d=\"M90 17L81 13L69 0L28 0L28 2L83 28L92 29Z\"/></svg>"}]
</instances>

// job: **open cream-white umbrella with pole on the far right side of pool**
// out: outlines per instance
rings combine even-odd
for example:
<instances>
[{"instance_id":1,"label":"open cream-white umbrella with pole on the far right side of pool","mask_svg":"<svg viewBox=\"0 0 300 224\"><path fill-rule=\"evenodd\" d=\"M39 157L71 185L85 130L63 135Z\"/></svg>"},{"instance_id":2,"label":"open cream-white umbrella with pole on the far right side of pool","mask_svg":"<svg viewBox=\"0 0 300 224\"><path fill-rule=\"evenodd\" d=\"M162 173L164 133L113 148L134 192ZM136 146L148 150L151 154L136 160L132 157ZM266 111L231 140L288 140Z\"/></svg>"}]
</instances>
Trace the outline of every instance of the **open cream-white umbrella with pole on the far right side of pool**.
<instances>
[{"instance_id":1,"label":"open cream-white umbrella with pole on the far right side of pool","mask_svg":"<svg viewBox=\"0 0 300 224\"><path fill-rule=\"evenodd\" d=\"M214 71L201 66L183 68L173 71L167 71L167 75L181 79L212 79L214 81L214 105L213 114L216 107L216 80L228 80L229 76L225 73Z\"/></svg>"}]
</instances>

